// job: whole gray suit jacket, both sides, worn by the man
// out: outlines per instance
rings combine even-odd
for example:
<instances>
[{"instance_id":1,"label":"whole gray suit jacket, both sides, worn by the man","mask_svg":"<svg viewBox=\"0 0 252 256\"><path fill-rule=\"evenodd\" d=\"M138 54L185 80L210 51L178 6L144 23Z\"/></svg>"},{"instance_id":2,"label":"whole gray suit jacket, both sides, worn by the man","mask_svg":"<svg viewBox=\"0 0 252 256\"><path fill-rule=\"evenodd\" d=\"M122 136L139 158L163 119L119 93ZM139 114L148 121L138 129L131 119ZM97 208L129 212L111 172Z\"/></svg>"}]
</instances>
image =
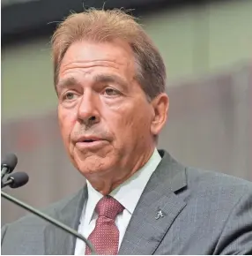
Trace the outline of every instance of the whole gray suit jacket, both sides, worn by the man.
<instances>
[{"instance_id":1,"label":"whole gray suit jacket, both sides, worn by the man","mask_svg":"<svg viewBox=\"0 0 252 256\"><path fill-rule=\"evenodd\" d=\"M119 254L251 254L252 184L159 154ZM77 230L86 197L85 187L45 212ZM159 210L163 217L156 219ZM75 242L33 215L2 229L2 254L73 254Z\"/></svg>"}]
</instances>

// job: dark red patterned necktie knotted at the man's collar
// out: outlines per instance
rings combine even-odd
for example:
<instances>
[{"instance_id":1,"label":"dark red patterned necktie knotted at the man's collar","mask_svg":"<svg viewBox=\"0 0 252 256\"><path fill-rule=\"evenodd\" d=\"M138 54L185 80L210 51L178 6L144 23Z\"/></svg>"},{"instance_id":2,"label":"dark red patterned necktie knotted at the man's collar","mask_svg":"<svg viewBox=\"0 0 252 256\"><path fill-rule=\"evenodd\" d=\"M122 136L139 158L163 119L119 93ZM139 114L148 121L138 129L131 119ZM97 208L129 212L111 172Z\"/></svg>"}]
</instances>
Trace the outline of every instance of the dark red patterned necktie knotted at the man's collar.
<instances>
[{"instance_id":1,"label":"dark red patterned necktie knotted at the man's collar","mask_svg":"<svg viewBox=\"0 0 252 256\"><path fill-rule=\"evenodd\" d=\"M103 197L96 205L95 211L99 215L95 228L88 237L99 255L116 255L119 245L119 230L115 225L115 217L122 213L124 207L111 196ZM91 252L85 246L85 255Z\"/></svg>"}]
</instances>

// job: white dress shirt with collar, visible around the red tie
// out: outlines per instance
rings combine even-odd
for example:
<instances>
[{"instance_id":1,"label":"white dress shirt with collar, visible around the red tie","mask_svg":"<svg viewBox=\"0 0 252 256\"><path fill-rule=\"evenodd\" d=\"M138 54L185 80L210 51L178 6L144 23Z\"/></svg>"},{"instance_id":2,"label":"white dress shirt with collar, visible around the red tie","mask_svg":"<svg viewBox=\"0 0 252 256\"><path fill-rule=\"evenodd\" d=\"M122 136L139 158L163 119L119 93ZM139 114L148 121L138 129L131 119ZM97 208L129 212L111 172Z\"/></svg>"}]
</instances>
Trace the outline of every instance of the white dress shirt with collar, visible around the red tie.
<instances>
[{"instance_id":1,"label":"white dress shirt with collar, visible around the red tie","mask_svg":"<svg viewBox=\"0 0 252 256\"><path fill-rule=\"evenodd\" d=\"M119 248L122 243L122 237L130 222L131 215L137 206L137 202L140 199L142 192L144 192L145 185L160 161L161 157L158 150L155 148L151 158L145 163L145 166L139 169L133 176L109 194L124 207L122 213L115 218L115 225L119 230ZM95 227L98 215L95 213L94 208L98 201L103 197L100 192L93 189L93 186L88 181L87 191L88 199L83 207L83 212L80 216L80 224L78 226L78 232L86 238L92 233ZM76 241L75 255L85 255L85 243L79 239Z\"/></svg>"}]
</instances>

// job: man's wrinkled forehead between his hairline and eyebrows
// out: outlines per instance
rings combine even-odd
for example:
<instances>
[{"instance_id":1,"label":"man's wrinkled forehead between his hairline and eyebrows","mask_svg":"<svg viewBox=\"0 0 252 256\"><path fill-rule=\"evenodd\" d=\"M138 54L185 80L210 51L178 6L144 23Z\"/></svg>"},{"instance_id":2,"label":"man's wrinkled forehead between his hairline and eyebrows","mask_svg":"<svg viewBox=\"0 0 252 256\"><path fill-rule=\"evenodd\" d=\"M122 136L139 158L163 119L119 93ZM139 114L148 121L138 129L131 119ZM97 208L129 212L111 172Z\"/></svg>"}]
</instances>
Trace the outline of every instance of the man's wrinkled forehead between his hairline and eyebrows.
<instances>
[{"instance_id":1,"label":"man's wrinkled forehead between his hairline and eyebrows","mask_svg":"<svg viewBox=\"0 0 252 256\"><path fill-rule=\"evenodd\" d=\"M106 43L104 42L104 44ZM108 46L110 46L109 50L101 49L100 46L102 47L103 43L89 41L73 43L63 56L63 61L59 66L56 85L63 83L63 77L69 77L70 73L75 71L81 72L88 77L90 77L91 73L97 71L115 72L127 80L135 77L136 62L134 55L131 58L127 54L127 50L125 52L125 49L122 49L124 53L121 56L119 54L116 55L115 51L119 46L117 44L114 45L114 43L113 45L108 43ZM67 79L68 84L72 83L72 81L73 79Z\"/></svg>"}]
</instances>

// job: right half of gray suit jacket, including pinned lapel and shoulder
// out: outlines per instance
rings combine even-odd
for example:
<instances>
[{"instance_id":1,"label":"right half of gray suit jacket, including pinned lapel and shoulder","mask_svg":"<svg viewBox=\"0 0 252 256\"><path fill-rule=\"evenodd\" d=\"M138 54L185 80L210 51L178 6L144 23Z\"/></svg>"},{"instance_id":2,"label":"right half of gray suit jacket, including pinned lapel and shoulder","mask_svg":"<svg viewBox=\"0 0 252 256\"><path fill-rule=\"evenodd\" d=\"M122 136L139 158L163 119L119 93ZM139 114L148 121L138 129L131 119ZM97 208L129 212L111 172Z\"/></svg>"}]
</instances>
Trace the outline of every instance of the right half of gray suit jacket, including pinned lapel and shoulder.
<instances>
[{"instance_id":1,"label":"right half of gray suit jacket, including pinned lapel and shoulder","mask_svg":"<svg viewBox=\"0 0 252 256\"><path fill-rule=\"evenodd\" d=\"M252 183L159 154L119 253L252 253Z\"/></svg>"}]
</instances>

